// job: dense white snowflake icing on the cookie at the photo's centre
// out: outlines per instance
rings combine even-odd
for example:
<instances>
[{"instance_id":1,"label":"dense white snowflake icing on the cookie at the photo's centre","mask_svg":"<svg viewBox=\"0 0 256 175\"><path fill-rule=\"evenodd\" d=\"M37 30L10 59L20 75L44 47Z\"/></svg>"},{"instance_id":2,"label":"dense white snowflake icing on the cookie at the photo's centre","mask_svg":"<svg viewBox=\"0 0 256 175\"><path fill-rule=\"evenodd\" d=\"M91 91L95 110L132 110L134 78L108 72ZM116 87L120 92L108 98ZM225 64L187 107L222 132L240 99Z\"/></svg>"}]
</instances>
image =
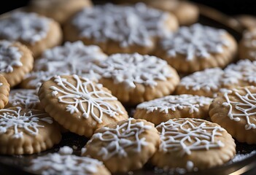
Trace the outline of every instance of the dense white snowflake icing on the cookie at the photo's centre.
<instances>
[{"instance_id":1,"label":"dense white snowflake icing on the cookie at the photo's centre","mask_svg":"<svg viewBox=\"0 0 256 175\"><path fill-rule=\"evenodd\" d=\"M92 69L101 77L123 83L126 88L136 88L135 83L153 87L158 85L157 80L165 81L173 76L166 61L139 53L113 54Z\"/></svg>"}]
</instances>

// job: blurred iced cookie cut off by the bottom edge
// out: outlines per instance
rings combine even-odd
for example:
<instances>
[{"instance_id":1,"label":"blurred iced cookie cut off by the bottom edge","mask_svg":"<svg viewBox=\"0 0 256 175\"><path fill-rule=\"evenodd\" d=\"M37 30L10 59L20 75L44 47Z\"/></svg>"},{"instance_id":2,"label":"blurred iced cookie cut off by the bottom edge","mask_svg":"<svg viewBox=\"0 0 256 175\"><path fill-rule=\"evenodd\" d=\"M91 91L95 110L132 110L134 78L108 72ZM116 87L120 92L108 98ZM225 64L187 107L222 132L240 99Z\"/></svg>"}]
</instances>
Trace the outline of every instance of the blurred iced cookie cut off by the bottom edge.
<instances>
[{"instance_id":1,"label":"blurred iced cookie cut off by the bottom edge","mask_svg":"<svg viewBox=\"0 0 256 175\"><path fill-rule=\"evenodd\" d=\"M110 175L101 161L72 155L72 152L70 147L61 147L59 152L34 158L26 171L33 174Z\"/></svg>"}]
</instances>

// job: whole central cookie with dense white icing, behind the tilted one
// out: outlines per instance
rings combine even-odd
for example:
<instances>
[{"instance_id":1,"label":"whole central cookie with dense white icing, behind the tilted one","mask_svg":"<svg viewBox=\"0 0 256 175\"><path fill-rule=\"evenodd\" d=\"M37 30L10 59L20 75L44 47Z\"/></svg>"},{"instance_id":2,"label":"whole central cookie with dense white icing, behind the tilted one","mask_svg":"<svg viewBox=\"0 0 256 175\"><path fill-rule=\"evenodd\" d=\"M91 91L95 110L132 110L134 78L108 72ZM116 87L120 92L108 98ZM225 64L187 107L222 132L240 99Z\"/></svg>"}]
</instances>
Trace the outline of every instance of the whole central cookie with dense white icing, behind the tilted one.
<instances>
[{"instance_id":1,"label":"whole central cookie with dense white icing, behind the tilted one","mask_svg":"<svg viewBox=\"0 0 256 175\"><path fill-rule=\"evenodd\" d=\"M111 55L92 70L113 96L131 106L167 96L179 83L177 71L166 61L138 53Z\"/></svg>"}]
</instances>

